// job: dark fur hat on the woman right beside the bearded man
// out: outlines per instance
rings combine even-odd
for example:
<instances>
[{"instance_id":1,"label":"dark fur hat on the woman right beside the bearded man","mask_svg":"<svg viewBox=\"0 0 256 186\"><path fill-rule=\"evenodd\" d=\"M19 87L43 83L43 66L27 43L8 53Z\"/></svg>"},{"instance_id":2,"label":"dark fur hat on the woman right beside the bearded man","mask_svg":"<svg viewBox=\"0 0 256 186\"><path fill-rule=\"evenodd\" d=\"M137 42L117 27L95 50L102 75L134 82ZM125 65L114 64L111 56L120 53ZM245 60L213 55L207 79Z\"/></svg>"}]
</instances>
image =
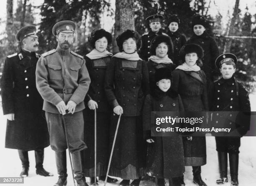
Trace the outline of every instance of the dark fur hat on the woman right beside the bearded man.
<instances>
[{"instance_id":1,"label":"dark fur hat on the woman right beside the bearded man","mask_svg":"<svg viewBox=\"0 0 256 186\"><path fill-rule=\"evenodd\" d=\"M88 37L88 41L90 42L90 45L92 46L92 48L95 48L95 42L100 39L100 38L107 38L108 40L108 45L110 45L112 43L112 35L107 32L104 29L100 29L100 30L93 30L91 35Z\"/></svg>"}]
</instances>

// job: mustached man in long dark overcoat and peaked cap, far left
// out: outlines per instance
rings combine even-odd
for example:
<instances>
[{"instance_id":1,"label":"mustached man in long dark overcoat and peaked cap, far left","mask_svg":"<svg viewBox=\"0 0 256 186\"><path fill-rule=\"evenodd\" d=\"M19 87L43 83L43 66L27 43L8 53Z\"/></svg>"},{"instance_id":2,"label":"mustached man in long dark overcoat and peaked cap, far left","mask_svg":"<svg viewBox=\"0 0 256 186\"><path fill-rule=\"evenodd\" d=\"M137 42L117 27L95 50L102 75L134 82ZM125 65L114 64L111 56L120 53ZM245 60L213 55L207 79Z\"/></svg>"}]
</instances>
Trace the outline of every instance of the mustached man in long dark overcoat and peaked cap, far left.
<instances>
[{"instance_id":1,"label":"mustached man in long dark overcoat and peaked cap, far left","mask_svg":"<svg viewBox=\"0 0 256 186\"><path fill-rule=\"evenodd\" d=\"M36 89L36 63L40 55L36 27L26 26L16 34L21 50L8 55L2 76L3 114L7 117L5 147L18 149L20 176L28 176L28 151L35 151L36 173L52 176L43 168L49 133L42 111L43 99Z\"/></svg>"}]
</instances>

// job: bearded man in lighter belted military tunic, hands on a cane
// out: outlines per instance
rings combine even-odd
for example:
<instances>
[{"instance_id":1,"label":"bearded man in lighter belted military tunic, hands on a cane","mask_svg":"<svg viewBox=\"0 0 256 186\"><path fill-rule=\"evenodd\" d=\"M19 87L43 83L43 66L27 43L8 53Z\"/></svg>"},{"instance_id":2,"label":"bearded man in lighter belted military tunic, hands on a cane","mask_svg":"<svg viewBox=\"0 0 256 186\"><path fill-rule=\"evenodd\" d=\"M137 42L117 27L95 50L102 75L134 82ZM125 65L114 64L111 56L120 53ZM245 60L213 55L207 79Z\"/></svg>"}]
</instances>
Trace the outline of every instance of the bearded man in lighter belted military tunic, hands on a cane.
<instances>
[{"instance_id":1,"label":"bearded man in lighter belted military tunic, hands on a cane","mask_svg":"<svg viewBox=\"0 0 256 186\"><path fill-rule=\"evenodd\" d=\"M36 67L36 87L44 99L43 110L50 134L50 145L55 151L59 179L55 186L67 185L66 149L69 138L75 179L78 186L87 186L82 173L80 151L84 143L84 97L90 77L82 56L70 50L75 23L60 21L52 29L58 46L42 54ZM64 115L64 118L63 116ZM64 125L67 127L65 136Z\"/></svg>"}]
</instances>

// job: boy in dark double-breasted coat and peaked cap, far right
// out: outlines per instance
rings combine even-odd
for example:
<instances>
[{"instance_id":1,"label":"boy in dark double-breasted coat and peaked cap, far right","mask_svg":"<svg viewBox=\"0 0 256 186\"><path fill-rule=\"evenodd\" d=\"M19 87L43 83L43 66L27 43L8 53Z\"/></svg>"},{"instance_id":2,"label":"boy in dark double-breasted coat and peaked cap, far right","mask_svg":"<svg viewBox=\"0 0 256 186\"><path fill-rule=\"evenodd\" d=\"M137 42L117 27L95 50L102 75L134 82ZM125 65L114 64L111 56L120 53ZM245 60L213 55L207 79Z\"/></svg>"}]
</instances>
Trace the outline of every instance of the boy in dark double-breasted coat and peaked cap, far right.
<instances>
[{"instance_id":1,"label":"boy in dark double-breasted coat and peaked cap, far right","mask_svg":"<svg viewBox=\"0 0 256 186\"><path fill-rule=\"evenodd\" d=\"M216 150L218 151L220 179L217 184L228 182L228 154L230 165L231 186L238 186L238 154L240 139L250 128L250 102L248 92L241 83L234 78L236 72L236 55L225 53L220 55L215 65L220 69L222 78L210 86L210 110L230 111L225 112L225 118L213 113L212 124L222 128L231 128L238 131L238 135L232 137L215 137ZM237 116L232 111L239 111ZM242 113L243 112L243 113ZM228 118L227 118L228 117ZM233 118L233 119L232 119ZM234 122L233 122L234 121Z\"/></svg>"}]
</instances>

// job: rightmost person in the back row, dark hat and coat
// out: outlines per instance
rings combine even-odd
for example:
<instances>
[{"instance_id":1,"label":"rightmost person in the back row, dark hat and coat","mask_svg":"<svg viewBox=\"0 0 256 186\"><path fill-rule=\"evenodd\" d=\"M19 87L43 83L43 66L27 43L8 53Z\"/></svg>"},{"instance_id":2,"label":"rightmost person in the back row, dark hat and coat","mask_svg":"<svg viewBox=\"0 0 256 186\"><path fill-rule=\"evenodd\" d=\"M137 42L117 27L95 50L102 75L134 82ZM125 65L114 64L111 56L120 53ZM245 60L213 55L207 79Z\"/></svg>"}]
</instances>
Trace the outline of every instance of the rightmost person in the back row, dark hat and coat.
<instances>
[{"instance_id":1,"label":"rightmost person in the back row, dark hat and coat","mask_svg":"<svg viewBox=\"0 0 256 186\"><path fill-rule=\"evenodd\" d=\"M202 70L205 72L207 78L207 87L213 82L213 75L218 71L215 69L215 60L219 55L217 43L213 37L211 37L205 27L205 19L197 15L192 20L192 27L194 34L187 41L187 43L195 43L200 45L204 50L204 58L202 58Z\"/></svg>"}]
</instances>

